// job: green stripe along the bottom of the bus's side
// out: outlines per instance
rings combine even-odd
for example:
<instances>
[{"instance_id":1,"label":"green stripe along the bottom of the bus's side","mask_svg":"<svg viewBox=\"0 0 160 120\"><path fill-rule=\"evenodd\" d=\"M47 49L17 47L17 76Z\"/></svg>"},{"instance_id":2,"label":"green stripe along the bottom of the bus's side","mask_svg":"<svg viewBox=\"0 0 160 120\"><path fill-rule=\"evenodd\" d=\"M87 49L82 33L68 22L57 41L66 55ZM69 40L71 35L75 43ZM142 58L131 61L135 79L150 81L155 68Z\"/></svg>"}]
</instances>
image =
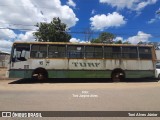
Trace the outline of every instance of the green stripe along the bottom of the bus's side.
<instances>
[{"instance_id":1,"label":"green stripe along the bottom of the bus's side","mask_svg":"<svg viewBox=\"0 0 160 120\"><path fill-rule=\"evenodd\" d=\"M33 70L10 70L11 78L31 78ZM154 77L154 70L124 71L126 78L147 78ZM91 70L48 70L49 78L111 78L112 71L91 71Z\"/></svg>"}]
</instances>

